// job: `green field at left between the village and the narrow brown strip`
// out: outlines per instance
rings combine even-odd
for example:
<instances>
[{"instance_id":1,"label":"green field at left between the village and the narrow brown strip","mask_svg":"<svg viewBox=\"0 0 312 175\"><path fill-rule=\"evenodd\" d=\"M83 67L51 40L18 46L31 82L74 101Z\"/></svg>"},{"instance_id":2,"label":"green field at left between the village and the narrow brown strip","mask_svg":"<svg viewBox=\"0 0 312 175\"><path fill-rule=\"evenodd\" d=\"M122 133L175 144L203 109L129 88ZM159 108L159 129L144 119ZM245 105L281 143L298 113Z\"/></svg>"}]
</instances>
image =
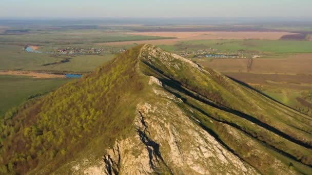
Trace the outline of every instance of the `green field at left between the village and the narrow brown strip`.
<instances>
[{"instance_id":1,"label":"green field at left between the village and the narrow brown strip","mask_svg":"<svg viewBox=\"0 0 312 175\"><path fill-rule=\"evenodd\" d=\"M45 63L56 62L65 57L72 59L61 64L43 66ZM28 53L22 51L20 46L0 45L0 70L89 72L112 57L114 54L109 53L104 55L53 56L52 54Z\"/></svg>"}]
</instances>

